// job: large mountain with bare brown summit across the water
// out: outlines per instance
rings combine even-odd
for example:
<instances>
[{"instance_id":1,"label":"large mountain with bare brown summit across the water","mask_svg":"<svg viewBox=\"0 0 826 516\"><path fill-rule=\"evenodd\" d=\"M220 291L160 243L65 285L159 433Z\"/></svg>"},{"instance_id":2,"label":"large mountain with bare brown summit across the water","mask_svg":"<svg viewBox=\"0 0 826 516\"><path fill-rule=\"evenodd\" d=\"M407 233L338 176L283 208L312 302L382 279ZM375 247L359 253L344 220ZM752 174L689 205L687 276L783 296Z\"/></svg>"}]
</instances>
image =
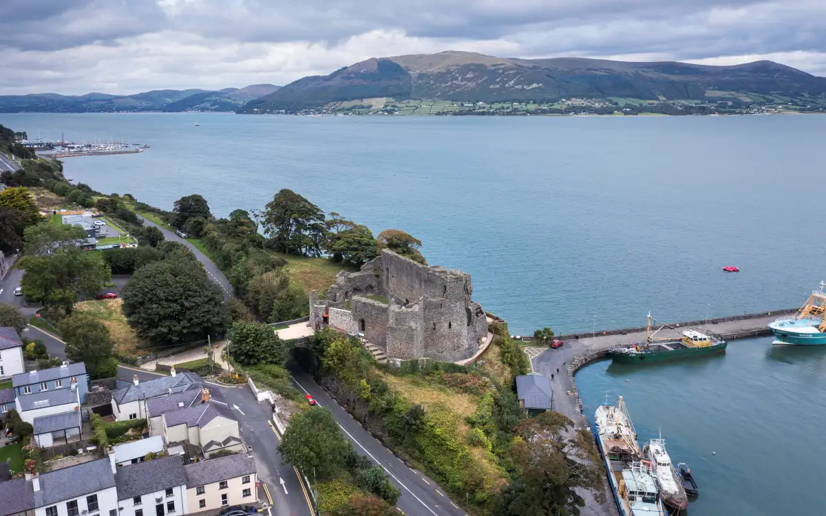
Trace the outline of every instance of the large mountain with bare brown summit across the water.
<instances>
[{"instance_id":1,"label":"large mountain with bare brown summit across the water","mask_svg":"<svg viewBox=\"0 0 826 516\"><path fill-rule=\"evenodd\" d=\"M826 93L826 78L771 61L734 66L674 61L498 58L472 52L373 58L298 79L238 112L296 111L373 97L459 102L553 102L565 97L704 99L714 92ZM709 92L710 95L709 95Z\"/></svg>"}]
</instances>

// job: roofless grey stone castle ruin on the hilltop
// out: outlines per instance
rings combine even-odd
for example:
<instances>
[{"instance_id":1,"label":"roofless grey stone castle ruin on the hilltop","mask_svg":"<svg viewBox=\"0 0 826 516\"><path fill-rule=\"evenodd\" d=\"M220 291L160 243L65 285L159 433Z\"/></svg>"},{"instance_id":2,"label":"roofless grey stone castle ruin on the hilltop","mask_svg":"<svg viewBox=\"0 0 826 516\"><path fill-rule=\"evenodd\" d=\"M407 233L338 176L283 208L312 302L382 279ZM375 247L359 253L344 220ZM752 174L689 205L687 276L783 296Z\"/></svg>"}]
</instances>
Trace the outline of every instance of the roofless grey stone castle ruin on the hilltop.
<instances>
[{"instance_id":1,"label":"roofless grey stone castle ruin on the hilltop","mask_svg":"<svg viewBox=\"0 0 826 516\"><path fill-rule=\"evenodd\" d=\"M339 272L320 300L310 294L310 325L358 334L389 358L472 357L487 334L470 275L415 263L387 249L359 272Z\"/></svg>"}]
</instances>

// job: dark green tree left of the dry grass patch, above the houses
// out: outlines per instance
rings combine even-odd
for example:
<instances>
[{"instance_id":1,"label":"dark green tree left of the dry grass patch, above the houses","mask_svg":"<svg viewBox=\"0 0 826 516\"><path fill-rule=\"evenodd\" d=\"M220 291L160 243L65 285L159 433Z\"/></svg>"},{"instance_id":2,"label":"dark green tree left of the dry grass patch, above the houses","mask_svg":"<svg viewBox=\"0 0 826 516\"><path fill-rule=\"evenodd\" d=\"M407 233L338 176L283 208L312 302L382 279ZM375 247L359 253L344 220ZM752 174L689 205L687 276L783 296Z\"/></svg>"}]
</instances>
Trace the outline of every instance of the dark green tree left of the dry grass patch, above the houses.
<instances>
[{"instance_id":1,"label":"dark green tree left of the dry grass patch, above the houses","mask_svg":"<svg viewBox=\"0 0 826 516\"><path fill-rule=\"evenodd\" d=\"M85 362L93 380L112 376L112 338L99 320L92 315L75 312L60 323L60 333L66 342L66 357L75 362Z\"/></svg>"}]
</instances>

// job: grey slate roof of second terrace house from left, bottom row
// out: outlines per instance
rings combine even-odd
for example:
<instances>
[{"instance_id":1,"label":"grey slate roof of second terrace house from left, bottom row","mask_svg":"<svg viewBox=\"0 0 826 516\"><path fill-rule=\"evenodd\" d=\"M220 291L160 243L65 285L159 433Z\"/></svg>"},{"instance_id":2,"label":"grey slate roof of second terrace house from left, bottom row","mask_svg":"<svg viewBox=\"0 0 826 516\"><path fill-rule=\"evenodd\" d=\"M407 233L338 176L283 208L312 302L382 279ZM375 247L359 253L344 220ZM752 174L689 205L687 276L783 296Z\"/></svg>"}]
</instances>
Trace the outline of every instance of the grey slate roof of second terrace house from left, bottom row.
<instances>
[{"instance_id":1,"label":"grey slate roof of second terrace house from left, bottom row","mask_svg":"<svg viewBox=\"0 0 826 516\"><path fill-rule=\"evenodd\" d=\"M108 458L64 467L40 475L40 490L34 493L35 507L54 505L114 486L115 475Z\"/></svg>"}]
</instances>

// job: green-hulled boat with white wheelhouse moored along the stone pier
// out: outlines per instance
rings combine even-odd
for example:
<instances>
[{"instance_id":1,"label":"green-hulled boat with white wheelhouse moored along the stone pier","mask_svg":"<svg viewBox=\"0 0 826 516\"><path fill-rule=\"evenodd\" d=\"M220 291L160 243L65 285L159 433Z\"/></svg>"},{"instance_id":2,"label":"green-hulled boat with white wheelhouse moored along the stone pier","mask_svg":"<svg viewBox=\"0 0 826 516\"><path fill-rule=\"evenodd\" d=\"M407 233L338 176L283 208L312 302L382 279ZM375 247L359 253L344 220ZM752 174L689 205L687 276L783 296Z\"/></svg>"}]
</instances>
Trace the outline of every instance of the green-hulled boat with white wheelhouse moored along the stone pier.
<instances>
[{"instance_id":1,"label":"green-hulled boat with white wheelhouse moored along the stone pier","mask_svg":"<svg viewBox=\"0 0 826 516\"><path fill-rule=\"evenodd\" d=\"M675 358L695 357L725 351L728 343L717 334L707 329L682 329L680 338L654 338L666 324L656 331L651 331L651 313L648 313L648 326L645 330L645 342L615 344L608 348L608 356L619 363L660 362Z\"/></svg>"}]
</instances>

